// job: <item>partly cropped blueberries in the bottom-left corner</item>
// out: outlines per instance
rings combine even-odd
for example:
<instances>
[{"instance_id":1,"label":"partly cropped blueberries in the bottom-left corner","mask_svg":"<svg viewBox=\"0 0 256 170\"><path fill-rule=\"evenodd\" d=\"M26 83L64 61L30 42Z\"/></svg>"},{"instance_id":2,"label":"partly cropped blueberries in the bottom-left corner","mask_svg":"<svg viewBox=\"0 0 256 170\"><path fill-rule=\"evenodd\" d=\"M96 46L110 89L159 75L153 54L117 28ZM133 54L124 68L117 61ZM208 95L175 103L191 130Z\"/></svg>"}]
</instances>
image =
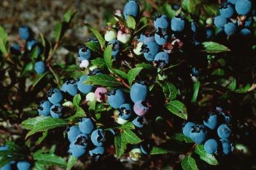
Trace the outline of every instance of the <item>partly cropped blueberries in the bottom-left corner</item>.
<instances>
[{"instance_id":1,"label":"partly cropped blueberries in the bottom-left corner","mask_svg":"<svg viewBox=\"0 0 256 170\"><path fill-rule=\"evenodd\" d=\"M0 151L7 151L7 150L8 150L8 146L0 146ZM18 170L29 170L29 168L31 166L29 164L29 162L27 162L25 160L22 160L22 161L19 161L19 162L12 161L9 164L6 164L3 167L1 167L0 170L12 170L12 164L16 164L16 163L17 163L17 169Z\"/></svg>"}]
</instances>

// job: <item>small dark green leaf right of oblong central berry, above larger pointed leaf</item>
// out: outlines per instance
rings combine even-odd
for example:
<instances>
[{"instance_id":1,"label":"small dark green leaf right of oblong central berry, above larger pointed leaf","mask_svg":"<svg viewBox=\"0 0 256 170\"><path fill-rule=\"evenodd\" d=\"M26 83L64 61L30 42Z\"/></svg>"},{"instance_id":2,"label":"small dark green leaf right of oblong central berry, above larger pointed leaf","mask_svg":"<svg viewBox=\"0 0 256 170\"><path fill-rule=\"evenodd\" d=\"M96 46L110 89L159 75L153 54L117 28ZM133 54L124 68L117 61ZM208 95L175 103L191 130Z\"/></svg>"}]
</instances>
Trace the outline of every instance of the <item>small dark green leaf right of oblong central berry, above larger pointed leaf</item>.
<instances>
[{"instance_id":1,"label":"small dark green leaf right of oblong central berry, above larger pointed leaf","mask_svg":"<svg viewBox=\"0 0 256 170\"><path fill-rule=\"evenodd\" d=\"M175 88L171 82L162 81L161 86L163 88L165 98L173 100L177 97L177 88Z\"/></svg>"}]
</instances>

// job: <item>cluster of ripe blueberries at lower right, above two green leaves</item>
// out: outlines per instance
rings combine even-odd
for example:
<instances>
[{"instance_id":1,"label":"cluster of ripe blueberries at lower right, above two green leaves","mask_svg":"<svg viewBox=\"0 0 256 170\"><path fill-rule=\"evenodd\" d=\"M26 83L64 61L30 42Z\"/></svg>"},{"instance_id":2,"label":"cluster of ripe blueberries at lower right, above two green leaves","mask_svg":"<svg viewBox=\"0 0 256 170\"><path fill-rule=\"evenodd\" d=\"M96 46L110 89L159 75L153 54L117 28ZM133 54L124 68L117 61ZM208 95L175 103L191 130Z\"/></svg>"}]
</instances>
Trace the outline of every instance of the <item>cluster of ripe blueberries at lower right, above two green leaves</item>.
<instances>
[{"instance_id":1,"label":"cluster of ripe blueberries at lower right, above two green leaves","mask_svg":"<svg viewBox=\"0 0 256 170\"><path fill-rule=\"evenodd\" d=\"M229 139L232 134L230 116L220 107L216 107L215 112L209 112L204 119L204 125L189 121L184 125L182 132L195 143L204 144L204 150L207 153L228 155L234 150L234 144L230 143Z\"/></svg>"}]
</instances>

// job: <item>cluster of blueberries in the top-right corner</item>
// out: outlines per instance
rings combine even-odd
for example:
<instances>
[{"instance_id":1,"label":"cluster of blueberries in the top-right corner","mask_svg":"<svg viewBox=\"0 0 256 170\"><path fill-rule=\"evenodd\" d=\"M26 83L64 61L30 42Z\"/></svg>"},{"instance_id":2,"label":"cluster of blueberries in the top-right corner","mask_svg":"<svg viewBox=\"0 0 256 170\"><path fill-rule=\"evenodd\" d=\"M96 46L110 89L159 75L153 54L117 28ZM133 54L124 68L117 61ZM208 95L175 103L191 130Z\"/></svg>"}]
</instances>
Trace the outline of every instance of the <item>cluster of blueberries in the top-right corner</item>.
<instances>
[{"instance_id":1,"label":"cluster of blueberries in the top-right corner","mask_svg":"<svg viewBox=\"0 0 256 170\"><path fill-rule=\"evenodd\" d=\"M253 24L255 9L250 0L228 0L220 4L220 15L215 17L214 24L220 30L218 34L227 36L239 33L242 36L250 36L250 27Z\"/></svg>"}]
</instances>

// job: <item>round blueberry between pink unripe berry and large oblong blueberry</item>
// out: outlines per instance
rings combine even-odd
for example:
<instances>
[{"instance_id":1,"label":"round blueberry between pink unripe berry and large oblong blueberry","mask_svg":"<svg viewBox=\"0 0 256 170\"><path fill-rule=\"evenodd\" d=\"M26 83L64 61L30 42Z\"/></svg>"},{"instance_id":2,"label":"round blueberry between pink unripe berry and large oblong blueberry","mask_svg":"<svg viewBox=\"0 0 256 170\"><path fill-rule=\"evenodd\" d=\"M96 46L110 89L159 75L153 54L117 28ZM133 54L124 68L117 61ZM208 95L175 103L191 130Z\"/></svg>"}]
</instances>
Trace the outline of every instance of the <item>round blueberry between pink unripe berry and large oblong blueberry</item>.
<instances>
[{"instance_id":1,"label":"round blueberry between pink unripe berry and large oblong blueberry","mask_svg":"<svg viewBox=\"0 0 256 170\"><path fill-rule=\"evenodd\" d=\"M108 93L108 104L113 108L118 108L125 103L125 95L121 89L111 89Z\"/></svg>"}]
</instances>

